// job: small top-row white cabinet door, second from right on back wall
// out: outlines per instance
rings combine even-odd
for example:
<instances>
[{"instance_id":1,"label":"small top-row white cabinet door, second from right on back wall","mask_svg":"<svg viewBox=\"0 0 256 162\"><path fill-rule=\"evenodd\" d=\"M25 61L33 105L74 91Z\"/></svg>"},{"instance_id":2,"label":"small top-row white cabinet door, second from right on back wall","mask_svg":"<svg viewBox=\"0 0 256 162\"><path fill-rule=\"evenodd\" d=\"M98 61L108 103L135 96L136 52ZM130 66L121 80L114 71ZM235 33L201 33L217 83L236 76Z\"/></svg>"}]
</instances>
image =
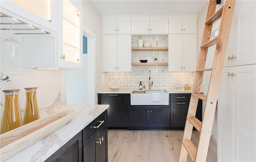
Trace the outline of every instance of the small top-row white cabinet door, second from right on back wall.
<instances>
[{"instance_id":1,"label":"small top-row white cabinet door, second from right on back wall","mask_svg":"<svg viewBox=\"0 0 256 162\"><path fill-rule=\"evenodd\" d=\"M182 18L169 18L169 33L182 33Z\"/></svg>"}]
</instances>

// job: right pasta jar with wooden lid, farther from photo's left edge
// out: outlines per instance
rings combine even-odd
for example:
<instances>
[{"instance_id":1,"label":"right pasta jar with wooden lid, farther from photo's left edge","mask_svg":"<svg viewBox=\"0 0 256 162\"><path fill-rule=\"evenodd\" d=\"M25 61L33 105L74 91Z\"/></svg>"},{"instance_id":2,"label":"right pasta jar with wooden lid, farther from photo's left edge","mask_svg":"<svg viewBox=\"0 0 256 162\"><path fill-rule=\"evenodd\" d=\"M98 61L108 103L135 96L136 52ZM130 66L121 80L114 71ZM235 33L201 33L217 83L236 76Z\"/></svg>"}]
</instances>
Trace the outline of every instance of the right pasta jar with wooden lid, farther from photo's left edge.
<instances>
[{"instance_id":1,"label":"right pasta jar with wooden lid, farther from photo's left edge","mask_svg":"<svg viewBox=\"0 0 256 162\"><path fill-rule=\"evenodd\" d=\"M39 119L39 110L36 100L37 87L24 88L26 90L25 112L23 124L28 124Z\"/></svg>"}]
</instances>

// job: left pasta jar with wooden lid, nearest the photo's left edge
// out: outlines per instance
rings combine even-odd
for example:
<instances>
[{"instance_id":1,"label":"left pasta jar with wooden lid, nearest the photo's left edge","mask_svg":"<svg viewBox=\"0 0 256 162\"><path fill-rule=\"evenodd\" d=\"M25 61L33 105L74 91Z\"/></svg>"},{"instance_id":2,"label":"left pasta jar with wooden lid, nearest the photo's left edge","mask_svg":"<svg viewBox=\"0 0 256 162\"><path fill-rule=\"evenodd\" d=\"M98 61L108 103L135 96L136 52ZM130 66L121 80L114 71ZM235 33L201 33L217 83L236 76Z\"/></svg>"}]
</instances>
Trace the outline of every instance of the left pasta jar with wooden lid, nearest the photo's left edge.
<instances>
[{"instance_id":1,"label":"left pasta jar with wooden lid, nearest the photo's left edge","mask_svg":"<svg viewBox=\"0 0 256 162\"><path fill-rule=\"evenodd\" d=\"M20 90L3 90L5 103L0 134L22 126L18 94Z\"/></svg>"}]
</instances>

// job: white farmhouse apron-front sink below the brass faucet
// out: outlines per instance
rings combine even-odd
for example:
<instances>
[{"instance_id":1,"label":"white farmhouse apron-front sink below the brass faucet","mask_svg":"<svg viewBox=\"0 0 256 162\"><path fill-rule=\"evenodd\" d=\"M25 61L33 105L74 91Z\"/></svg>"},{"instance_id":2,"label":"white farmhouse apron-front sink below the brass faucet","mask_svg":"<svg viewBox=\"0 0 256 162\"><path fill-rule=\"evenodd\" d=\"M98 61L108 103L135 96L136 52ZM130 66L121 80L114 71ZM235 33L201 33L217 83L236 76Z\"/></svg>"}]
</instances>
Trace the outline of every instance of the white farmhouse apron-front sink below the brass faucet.
<instances>
[{"instance_id":1,"label":"white farmhouse apron-front sink below the brass faucet","mask_svg":"<svg viewBox=\"0 0 256 162\"><path fill-rule=\"evenodd\" d=\"M153 101L153 93L160 95L159 101ZM166 90L134 90L131 105L169 105L169 94Z\"/></svg>"}]
</instances>

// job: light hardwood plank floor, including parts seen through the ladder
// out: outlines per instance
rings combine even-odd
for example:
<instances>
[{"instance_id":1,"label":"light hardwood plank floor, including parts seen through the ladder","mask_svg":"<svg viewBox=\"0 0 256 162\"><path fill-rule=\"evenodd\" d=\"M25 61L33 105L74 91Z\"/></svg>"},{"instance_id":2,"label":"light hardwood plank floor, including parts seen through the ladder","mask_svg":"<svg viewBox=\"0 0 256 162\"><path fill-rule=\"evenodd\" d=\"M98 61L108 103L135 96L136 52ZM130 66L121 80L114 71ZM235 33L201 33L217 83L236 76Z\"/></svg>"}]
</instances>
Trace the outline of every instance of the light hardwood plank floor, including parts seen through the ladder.
<instances>
[{"instance_id":1,"label":"light hardwood plank floor, including parts seen through the ladder","mask_svg":"<svg viewBox=\"0 0 256 162\"><path fill-rule=\"evenodd\" d=\"M215 115L215 125L217 123ZM109 162L177 162L184 131L180 130L108 130ZM197 146L199 132L193 131ZM188 162L191 158L188 156ZM207 162L217 161L217 135L210 139Z\"/></svg>"}]
</instances>

